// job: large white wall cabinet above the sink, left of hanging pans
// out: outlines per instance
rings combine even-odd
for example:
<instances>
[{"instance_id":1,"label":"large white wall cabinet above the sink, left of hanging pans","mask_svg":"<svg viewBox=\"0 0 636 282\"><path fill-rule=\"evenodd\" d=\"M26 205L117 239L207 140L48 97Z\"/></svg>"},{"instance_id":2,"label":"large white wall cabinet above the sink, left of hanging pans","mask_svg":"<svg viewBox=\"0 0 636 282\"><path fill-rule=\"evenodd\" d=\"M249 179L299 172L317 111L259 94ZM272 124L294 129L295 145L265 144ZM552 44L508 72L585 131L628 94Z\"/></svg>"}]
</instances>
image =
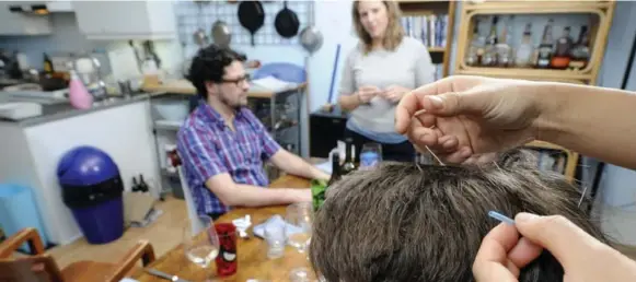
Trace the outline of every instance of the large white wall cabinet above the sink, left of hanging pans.
<instances>
[{"instance_id":1,"label":"large white wall cabinet above the sink, left of hanging pans","mask_svg":"<svg viewBox=\"0 0 636 282\"><path fill-rule=\"evenodd\" d=\"M172 39L173 1L73 1L78 26L89 39Z\"/></svg>"}]
</instances>

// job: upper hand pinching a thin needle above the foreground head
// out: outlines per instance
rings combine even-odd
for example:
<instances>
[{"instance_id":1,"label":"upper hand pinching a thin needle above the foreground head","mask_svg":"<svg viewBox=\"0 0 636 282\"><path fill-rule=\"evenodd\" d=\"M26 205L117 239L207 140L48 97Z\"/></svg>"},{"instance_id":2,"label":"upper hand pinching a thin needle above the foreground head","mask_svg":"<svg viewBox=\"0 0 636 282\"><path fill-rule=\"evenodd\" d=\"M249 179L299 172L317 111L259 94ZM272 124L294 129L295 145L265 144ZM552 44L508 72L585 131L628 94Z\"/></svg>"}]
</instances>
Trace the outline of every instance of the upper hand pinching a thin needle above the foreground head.
<instances>
[{"instance_id":1,"label":"upper hand pinching a thin needle above the foreground head","mask_svg":"<svg viewBox=\"0 0 636 282\"><path fill-rule=\"evenodd\" d=\"M479 162L536 138L542 114L536 82L450 77L406 94L395 129L449 163Z\"/></svg>"}]
</instances>

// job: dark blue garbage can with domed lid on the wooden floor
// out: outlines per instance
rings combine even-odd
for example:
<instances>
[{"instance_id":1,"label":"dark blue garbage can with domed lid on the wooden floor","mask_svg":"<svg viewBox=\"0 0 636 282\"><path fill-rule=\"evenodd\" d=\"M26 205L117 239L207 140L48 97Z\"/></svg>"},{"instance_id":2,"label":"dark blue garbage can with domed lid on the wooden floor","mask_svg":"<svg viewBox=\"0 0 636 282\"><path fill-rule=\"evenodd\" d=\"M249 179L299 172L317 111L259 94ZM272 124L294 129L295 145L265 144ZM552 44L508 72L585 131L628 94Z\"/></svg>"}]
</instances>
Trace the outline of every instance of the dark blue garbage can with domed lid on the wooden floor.
<instances>
[{"instance_id":1,"label":"dark blue garbage can with domed lid on the wooden floor","mask_svg":"<svg viewBox=\"0 0 636 282\"><path fill-rule=\"evenodd\" d=\"M90 244L124 235L124 184L113 158L93 146L79 146L60 160L57 176L65 204Z\"/></svg>"}]
</instances>

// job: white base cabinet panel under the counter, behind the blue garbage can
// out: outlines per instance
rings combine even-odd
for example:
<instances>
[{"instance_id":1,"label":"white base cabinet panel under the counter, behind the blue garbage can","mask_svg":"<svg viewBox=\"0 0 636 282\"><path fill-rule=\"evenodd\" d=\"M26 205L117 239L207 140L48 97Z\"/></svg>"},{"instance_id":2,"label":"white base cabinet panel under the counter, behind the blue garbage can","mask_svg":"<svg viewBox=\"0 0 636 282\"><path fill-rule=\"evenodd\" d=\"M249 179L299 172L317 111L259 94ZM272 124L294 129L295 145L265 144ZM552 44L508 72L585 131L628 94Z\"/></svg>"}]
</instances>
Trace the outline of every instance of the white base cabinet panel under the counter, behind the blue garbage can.
<instances>
[{"instance_id":1,"label":"white base cabinet panel under the counter, behind the blue garbage can","mask_svg":"<svg viewBox=\"0 0 636 282\"><path fill-rule=\"evenodd\" d=\"M67 110L65 109L69 108ZM55 108L48 106L47 108ZM61 197L56 175L60 157L79 145L106 152L117 164L126 191L143 175L159 196L159 171L150 120L150 102L139 96L116 104L60 110L22 121L0 121L0 181L33 189L50 243L65 245L82 236ZM33 121L32 121L33 120Z\"/></svg>"}]
</instances>

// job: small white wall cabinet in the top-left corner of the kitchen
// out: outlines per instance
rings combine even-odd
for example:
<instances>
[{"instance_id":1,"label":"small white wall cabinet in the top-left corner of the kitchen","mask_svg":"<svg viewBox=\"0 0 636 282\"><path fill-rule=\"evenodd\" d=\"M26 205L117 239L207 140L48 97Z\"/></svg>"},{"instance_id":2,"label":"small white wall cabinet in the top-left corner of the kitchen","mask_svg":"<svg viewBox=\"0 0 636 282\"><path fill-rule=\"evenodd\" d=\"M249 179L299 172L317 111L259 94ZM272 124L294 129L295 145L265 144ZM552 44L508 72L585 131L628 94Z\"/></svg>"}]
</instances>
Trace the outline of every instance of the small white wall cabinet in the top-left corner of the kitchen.
<instances>
[{"instance_id":1,"label":"small white wall cabinet in the top-left corner of the kitchen","mask_svg":"<svg viewBox=\"0 0 636 282\"><path fill-rule=\"evenodd\" d=\"M51 34L48 15L11 12L11 5L28 5L38 2L0 1L0 35L46 35Z\"/></svg>"}]
</instances>

